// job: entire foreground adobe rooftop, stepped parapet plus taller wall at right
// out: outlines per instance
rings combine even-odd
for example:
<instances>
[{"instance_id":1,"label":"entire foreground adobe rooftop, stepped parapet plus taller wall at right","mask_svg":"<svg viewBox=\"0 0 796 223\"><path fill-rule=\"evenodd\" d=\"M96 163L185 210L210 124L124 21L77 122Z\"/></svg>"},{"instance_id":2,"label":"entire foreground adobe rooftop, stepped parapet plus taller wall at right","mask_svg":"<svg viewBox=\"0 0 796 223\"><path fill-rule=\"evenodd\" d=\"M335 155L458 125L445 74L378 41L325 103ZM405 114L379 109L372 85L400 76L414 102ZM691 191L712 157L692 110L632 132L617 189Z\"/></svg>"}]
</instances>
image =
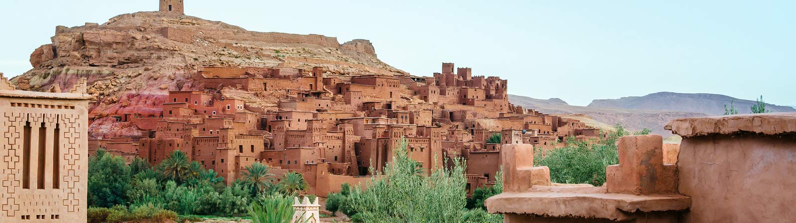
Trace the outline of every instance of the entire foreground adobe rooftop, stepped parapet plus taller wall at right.
<instances>
[{"instance_id":1,"label":"entire foreground adobe rooftop, stepped parapet plus taller wall at right","mask_svg":"<svg viewBox=\"0 0 796 223\"><path fill-rule=\"evenodd\" d=\"M625 136L597 187L547 185L524 158L531 148L505 145L505 193L486 206L505 222L796 222L796 113L683 118L665 129L683 136L677 161L662 160L661 136Z\"/></svg>"}]
</instances>

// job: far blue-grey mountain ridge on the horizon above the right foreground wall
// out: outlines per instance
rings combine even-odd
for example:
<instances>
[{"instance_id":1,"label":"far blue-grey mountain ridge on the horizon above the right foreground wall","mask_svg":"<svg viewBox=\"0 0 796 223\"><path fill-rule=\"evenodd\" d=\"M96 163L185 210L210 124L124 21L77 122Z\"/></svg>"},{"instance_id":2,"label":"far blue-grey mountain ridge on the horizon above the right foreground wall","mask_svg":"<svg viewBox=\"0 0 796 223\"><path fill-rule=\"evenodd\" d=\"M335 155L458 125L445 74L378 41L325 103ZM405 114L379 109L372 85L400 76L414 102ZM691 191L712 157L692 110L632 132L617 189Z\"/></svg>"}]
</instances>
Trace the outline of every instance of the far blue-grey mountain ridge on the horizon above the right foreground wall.
<instances>
[{"instance_id":1,"label":"far blue-grey mountain ridge on the horizon above the right foreground wall","mask_svg":"<svg viewBox=\"0 0 796 223\"><path fill-rule=\"evenodd\" d=\"M711 115L724 114L724 104L730 106L732 102L739 113L751 113L751 106L755 101L732 98L722 94L683 94L673 92L658 92L642 97L624 97L618 99L599 99L591 101L588 107L622 108L630 110L668 110L695 113L708 113ZM766 104L766 109L772 112L796 111L792 106L777 106Z\"/></svg>"}]
</instances>

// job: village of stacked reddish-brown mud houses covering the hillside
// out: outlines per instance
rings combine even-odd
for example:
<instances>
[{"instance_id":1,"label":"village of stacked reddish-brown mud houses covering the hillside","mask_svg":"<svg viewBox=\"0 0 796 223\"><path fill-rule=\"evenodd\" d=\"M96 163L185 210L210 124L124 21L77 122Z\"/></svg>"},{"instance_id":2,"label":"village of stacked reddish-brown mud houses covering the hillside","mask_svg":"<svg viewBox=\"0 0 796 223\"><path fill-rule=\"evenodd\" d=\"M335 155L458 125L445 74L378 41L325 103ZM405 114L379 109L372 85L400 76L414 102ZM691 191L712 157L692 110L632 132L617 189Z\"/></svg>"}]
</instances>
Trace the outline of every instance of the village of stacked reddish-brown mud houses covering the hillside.
<instances>
[{"instance_id":1,"label":"village of stacked reddish-brown mud houses covering the hillside","mask_svg":"<svg viewBox=\"0 0 796 223\"><path fill-rule=\"evenodd\" d=\"M563 147L587 140L599 129L577 120L509 104L508 82L472 75L470 68L431 77L331 75L287 67L202 67L193 90L170 91L162 110L125 113L119 121L140 136L90 140L90 148L157 164L181 150L217 171L228 183L252 163L275 173L296 171L311 191L326 194L341 183L358 183L370 167L384 167L401 140L430 173L445 158L464 158L471 190L495 180L501 144ZM279 95L273 106L225 98L220 91ZM487 143L490 136L502 141Z\"/></svg>"}]
</instances>

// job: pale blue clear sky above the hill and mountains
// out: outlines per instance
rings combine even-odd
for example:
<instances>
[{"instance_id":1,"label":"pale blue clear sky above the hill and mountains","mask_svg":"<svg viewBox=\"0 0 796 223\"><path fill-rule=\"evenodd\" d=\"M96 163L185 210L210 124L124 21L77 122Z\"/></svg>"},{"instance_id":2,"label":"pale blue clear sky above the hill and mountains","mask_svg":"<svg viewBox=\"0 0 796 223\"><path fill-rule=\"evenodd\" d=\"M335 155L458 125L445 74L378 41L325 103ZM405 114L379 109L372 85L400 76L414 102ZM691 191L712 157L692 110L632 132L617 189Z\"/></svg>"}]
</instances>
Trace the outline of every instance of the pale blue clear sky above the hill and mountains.
<instances>
[{"instance_id":1,"label":"pale blue clear sky above the hill and mountains","mask_svg":"<svg viewBox=\"0 0 796 223\"><path fill-rule=\"evenodd\" d=\"M450 62L508 79L509 94L572 105L672 91L796 106L796 1L185 2L188 15L252 31L371 40L412 75ZM57 25L154 10L157 0L2 0L0 72L31 69Z\"/></svg>"}]
</instances>

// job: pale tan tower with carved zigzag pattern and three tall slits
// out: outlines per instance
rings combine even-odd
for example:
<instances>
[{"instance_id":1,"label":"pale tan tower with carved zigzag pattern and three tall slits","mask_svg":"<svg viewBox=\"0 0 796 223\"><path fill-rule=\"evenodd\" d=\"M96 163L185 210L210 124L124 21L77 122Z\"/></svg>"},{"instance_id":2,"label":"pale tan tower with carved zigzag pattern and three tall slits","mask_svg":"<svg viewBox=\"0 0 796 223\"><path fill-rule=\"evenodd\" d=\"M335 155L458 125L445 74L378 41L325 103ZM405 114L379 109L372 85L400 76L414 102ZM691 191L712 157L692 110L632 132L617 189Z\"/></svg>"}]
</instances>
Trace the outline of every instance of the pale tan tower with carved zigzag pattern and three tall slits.
<instances>
[{"instance_id":1,"label":"pale tan tower with carved zigzag pattern and three tall slits","mask_svg":"<svg viewBox=\"0 0 796 223\"><path fill-rule=\"evenodd\" d=\"M0 74L0 222L86 222L86 80L64 93L14 88Z\"/></svg>"}]
</instances>

